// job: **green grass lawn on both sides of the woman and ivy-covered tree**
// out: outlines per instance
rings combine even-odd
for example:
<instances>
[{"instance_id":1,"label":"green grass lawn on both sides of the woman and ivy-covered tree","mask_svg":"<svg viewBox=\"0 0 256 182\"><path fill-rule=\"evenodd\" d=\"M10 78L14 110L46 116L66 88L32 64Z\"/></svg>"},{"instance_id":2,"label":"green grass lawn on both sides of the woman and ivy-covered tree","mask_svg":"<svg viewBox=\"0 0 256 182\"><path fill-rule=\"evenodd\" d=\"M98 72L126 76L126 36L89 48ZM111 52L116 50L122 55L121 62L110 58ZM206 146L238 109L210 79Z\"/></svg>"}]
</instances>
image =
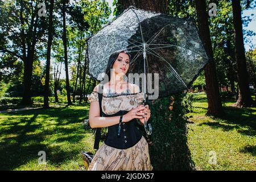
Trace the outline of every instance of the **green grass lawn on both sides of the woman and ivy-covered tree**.
<instances>
[{"instance_id":1,"label":"green grass lawn on both sides of the woman and ivy-covered tree","mask_svg":"<svg viewBox=\"0 0 256 182\"><path fill-rule=\"evenodd\" d=\"M196 95L188 145L197 170L256 170L256 109L234 109L233 103L225 118L214 119L204 115L206 94ZM93 151L94 135L83 125L88 111L89 105L73 105L0 114L0 169L79 170L81 151ZM46 164L38 163L39 151L46 152Z\"/></svg>"}]
</instances>

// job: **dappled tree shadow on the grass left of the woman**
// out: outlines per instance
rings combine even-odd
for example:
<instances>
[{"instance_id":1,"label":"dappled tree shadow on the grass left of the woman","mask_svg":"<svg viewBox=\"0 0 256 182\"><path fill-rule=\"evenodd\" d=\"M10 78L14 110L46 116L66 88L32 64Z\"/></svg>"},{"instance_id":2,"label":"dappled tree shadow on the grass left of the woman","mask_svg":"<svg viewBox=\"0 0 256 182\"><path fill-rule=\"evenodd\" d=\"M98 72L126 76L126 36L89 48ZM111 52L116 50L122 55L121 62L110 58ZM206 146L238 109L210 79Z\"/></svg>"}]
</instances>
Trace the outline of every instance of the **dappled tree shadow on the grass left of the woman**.
<instances>
[{"instance_id":1,"label":"dappled tree shadow on the grass left of the woman","mask_svg":"<svg viewBox=\"0 0 256 182\"><path fill-rule=\"evenodd\" d=\"M80 155L80 148L84 147L85 130L79 123L88 118L85 109L59 107L4 115L10 117L1 122L0 128L2 170L37 160L39 151L45 151L47 161L57 167Z\"/></svg>"}]
</instances>

